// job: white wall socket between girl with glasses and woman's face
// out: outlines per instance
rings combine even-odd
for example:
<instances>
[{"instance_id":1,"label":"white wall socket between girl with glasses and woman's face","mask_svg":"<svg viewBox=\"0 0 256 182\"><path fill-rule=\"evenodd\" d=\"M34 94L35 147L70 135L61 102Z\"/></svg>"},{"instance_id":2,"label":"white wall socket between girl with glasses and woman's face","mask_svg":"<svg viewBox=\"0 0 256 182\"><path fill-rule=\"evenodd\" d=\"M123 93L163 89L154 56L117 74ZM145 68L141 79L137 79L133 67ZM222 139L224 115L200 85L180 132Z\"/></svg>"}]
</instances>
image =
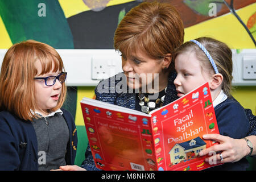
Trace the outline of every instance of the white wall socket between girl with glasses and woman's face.
<instances>
[{"instance_id":1,"label":"white wall socket between girl with glasses and woman's face","mask_svg":"<svg viewBox=\"0 0 256 182\"><path fill-rule=\"evenodd\" d=\"M103 80L122 72L121 56L97 55L92 57L92 80Z\"/></svg>"}]
</instances>

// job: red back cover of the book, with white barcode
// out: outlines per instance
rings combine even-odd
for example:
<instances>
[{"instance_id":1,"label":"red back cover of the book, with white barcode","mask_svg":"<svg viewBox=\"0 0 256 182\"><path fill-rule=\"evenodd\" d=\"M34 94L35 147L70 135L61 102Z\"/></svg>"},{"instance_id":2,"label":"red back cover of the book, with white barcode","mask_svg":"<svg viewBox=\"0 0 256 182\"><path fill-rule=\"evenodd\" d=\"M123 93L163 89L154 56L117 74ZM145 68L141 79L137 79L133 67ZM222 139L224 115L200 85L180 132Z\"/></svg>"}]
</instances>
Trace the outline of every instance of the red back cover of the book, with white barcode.
<instances>
[{"instance_id":1,"label":"red back cover of the book, with white barcode","mask_svg":"<svg viewBox=\"0 0 256 182\"><path fill-rule=\"evenodd\" d=\"M104 170L156 170L152 155L150 116L125 107L84 98L86 132L96 167ZM147 151L147 152L145 152Z\"/></svg>"}]
</instances>

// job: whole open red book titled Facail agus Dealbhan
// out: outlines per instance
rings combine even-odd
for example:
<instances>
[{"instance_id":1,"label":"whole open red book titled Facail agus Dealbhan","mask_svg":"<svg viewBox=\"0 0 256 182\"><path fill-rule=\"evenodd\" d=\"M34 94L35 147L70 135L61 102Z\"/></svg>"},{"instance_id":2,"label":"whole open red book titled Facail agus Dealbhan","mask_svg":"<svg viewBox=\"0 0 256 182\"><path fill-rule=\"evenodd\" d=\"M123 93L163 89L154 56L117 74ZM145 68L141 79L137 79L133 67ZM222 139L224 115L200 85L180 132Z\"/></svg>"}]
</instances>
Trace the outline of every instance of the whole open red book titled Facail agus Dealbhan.
<instances>
[{"instance_id":1,"label":"whole open red book titled Facail agus Dealbhan","mask_svg":"<svg viewBox=\"0 0 256 182\"><path fill-rule=\"evenodd\" d=\"M86 132L97 168L104 170L202 170L199 152L218 134L208 83L149 114L105 102L81 101Z\"/></svg>"}]
</instances>

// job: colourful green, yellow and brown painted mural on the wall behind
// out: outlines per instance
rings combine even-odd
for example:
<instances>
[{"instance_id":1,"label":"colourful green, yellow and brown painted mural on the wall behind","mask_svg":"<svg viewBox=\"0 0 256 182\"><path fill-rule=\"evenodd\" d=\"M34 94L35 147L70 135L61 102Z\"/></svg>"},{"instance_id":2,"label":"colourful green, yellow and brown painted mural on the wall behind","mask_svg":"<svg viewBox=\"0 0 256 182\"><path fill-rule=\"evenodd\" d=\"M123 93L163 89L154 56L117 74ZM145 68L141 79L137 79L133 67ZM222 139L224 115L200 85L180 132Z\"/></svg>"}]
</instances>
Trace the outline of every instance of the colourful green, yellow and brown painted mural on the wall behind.
<instances>
[{"instance_id":1,"label":"colourful green, yellow and brown painted mural on the wall behind","mask_svg":"<svg viewBox=\"0 0 256 182\"><path fill-rule=\"evenodd\" d=\"M1 0L0 48L8 49L16 42L34 39L56 49L112 49L118 23L141 2L143 0ZM245 28L222 0L159 2L172 3L180 11L185 41L212 36L227 43L230 48L255 48ZM232 0L226 2L230 4ZM234 0L233 6L256 39L255 0ZM253 91L249 94L253 95ZM84 141L78 146L77 164L84 158L87 142L83 137L85 129L79 102L82 97L93 95L93 87L69 87L64 105L75 118L80 141ZM255 108L251 109L255 114Z\"/></svg>"}]
</instances>

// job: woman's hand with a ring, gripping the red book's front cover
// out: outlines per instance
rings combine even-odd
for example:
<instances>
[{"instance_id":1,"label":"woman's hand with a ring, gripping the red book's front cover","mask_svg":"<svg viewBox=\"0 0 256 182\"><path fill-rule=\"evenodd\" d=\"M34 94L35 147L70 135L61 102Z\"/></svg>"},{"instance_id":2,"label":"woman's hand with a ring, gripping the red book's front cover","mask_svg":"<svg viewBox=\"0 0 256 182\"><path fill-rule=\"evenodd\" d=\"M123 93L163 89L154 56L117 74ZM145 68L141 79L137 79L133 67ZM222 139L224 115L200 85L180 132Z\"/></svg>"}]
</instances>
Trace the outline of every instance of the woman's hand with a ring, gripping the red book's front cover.
<instances>
[{"instance_id":1,"label":"woman's hand with a ring, gripping the red book's front cover","mask_svg":"<svg viewBox=\"0 0 256 182\"><path fill-rule=\"evenodd\" d=\"M245 139L233 139L219 134L207 134L203 138L220 143L206 148L199 153L200 156L203 156L209 154L210 151L215 151L213 152L214 155L205 158L205 162L216 160L217 163L233 163L241 160L250 152ZM222 161L220 154L223 158Z\"/></svg>"}]
</instances>

